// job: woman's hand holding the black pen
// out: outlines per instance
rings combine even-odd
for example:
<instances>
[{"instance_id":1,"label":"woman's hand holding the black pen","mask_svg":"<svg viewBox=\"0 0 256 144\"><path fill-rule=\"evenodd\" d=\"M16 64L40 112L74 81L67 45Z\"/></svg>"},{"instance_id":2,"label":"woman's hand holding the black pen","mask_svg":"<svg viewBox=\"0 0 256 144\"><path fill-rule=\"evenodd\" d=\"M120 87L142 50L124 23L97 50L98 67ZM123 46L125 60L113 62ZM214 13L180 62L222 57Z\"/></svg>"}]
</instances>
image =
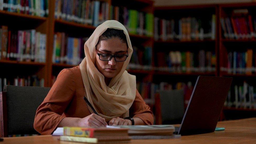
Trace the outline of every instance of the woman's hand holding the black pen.
<instances>
[{"instance_id":1,"label":"woman's hand holding the black pen","mask_svg":"<svg viewBox=\"0 0 256 144\"><path fill-rule=\"evenodd\" d=\"M96 114L90 114L78 121L80 127L106 127L105 119Z\"/></svg>"}]
</instances>

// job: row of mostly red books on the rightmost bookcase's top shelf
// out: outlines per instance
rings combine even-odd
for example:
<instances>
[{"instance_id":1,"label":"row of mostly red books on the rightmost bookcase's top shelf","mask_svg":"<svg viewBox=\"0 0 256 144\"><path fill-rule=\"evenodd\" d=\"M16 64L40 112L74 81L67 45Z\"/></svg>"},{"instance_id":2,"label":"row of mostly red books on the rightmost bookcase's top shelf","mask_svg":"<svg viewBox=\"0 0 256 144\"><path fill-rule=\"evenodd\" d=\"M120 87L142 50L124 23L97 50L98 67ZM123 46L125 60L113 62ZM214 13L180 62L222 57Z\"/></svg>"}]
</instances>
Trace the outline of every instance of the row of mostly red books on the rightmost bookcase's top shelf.
<instances>
[{"instance_id":1,"label":"row of mostly red books on the rightmost bookcase's top shelf","mask_svg":"<svg viewBox=\"0 0 256 144\"><path fill-rule=\"evenodd\" d=\"M248 9L235 9L232 17L222 17L220 22L225 39L256 38L256 18L249 14Z\"/></svg>"}]
</instances>

